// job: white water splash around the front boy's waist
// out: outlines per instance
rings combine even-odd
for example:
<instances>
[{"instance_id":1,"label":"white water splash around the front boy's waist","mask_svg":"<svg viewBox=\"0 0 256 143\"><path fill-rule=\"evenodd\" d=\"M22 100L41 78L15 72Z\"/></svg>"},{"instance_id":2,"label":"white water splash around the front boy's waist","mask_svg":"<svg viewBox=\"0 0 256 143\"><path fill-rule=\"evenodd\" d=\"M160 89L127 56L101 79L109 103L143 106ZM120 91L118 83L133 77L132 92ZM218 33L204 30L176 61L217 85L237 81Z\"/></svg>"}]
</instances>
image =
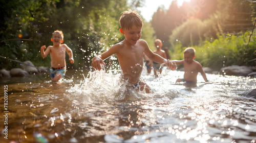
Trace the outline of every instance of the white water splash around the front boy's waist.
<instances>
[{"instance_id":1,"label":"white water splash around the front boy's waist","mask_svg":"<svg viewBox=\"0 0 256 143\"><path fill-rule=\"evenodd\" d=\"M127 81L121 79L121 74L113 74L121 71L106 72L103 64L101 68L100 71L90 71L88 78L71 87L69 92L80 93L81 97L86 97L83 99L85 102L92 99L94 102L137 101L152 96L136 90L133 86L131 88Z\"/></svg>"}]
</instances>

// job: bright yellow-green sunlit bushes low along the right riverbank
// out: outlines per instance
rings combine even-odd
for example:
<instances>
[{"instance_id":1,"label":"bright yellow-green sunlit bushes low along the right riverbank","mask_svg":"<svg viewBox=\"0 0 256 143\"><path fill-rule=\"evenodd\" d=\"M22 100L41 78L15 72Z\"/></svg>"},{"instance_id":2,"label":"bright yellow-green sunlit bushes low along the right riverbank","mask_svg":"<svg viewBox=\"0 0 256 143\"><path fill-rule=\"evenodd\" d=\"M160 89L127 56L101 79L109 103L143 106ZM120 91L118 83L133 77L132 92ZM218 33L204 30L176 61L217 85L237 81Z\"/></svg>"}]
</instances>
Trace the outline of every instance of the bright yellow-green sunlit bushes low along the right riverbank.
<instances>
[{"instance_id":1,"label":"bright yellow-green sunlit bushes low along the right riverbank","mask_svg":"<svg viewBox=\"0 0 256 143\"><path fill-rule=\"evenodd\" d=\"M215 40L205 40L195 45L196 58L203 66L219 70L221 67L230 65L247 65L254 66L255 63L248 62L256 58L255 53L256 33L253 33L248 44L250 32L235 35L218 35ZM176 44L174 58L183 59L183 51L186 47L182 47L180 42ZM181 51L181 49L183 51Z\"/></svg>"}]
</instances>

